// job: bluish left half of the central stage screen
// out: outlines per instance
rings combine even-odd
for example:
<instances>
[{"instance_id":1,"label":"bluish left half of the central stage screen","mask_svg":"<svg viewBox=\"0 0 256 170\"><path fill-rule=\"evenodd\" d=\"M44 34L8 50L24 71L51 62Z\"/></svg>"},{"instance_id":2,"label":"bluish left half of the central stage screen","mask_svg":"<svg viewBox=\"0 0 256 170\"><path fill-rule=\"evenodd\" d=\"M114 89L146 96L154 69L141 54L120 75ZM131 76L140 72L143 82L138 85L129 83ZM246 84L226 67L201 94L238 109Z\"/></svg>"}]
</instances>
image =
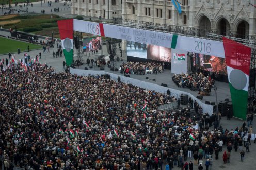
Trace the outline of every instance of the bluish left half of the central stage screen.
<instances>
[{"instance_id":1,"label":"bluish left half of the central stage screen","mask_svg":"<svg viewBox=\"0 0 256 170\"><path fill-rule=\"evenodd\" d=\"M137 42L127 41L127 56L147 58L147 45Z\"/></svg>"}]
</instances>

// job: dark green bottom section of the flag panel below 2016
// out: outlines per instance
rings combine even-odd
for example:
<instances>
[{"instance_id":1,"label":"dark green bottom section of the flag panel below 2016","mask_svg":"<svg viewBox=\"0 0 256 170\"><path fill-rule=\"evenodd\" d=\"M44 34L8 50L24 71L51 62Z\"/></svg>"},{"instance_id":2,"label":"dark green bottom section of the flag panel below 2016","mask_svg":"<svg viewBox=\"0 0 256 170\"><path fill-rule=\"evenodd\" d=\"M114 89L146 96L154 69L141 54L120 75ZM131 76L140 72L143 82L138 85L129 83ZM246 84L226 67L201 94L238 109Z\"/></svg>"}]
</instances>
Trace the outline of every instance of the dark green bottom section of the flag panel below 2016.
<instances>
[{"instance_id":1,"label":"dark green bottom section of the flag panel below 2016","mask_svg":"<svg viewBox=\"0 0 256 170\"><path fill-rule=\"evenodd\" d=\"M229 88L234 116L246 120L248 92L235 89L231 83L229 83Z\"/></svg>"}]
</instances>

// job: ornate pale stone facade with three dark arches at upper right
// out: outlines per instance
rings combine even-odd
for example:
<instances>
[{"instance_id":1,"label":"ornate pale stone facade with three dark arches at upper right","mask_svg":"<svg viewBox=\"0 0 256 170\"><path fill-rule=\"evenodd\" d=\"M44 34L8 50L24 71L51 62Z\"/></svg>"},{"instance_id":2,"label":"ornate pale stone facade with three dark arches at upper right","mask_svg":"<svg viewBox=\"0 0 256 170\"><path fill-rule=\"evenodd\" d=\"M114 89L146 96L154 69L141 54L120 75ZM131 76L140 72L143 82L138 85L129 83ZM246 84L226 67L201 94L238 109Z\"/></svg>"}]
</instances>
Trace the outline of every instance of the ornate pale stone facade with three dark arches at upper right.
<instances>
[{"instance_id":1,"label":"ornate pale stone facade with three dark arches at upper right","mask_svg":"<svg viewBox=\"0 0 256 170\"><path fill-rule=\"evenodd\" d=\"M122 0L122 18L211 29L244 38L256 34L256 8L246 0L179 0L178 14L170 0ZM256 0L250 0L256 5Z\"/></svg>"}]
</instances>

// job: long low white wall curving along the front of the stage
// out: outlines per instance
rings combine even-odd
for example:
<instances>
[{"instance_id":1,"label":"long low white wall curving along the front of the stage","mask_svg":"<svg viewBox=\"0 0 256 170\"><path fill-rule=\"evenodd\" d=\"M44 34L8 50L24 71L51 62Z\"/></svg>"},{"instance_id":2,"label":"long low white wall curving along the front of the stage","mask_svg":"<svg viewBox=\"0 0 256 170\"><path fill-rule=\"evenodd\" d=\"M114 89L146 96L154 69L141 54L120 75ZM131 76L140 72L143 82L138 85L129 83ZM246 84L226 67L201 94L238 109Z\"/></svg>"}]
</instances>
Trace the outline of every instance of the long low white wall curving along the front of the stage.
<instances>
[{"instance_id":1,"label":"long low white wall curving along the front of the stage","mask_svg":"<svg viewBox=\"0 0 256 170\"><path fill-rule=\"evenodd\" d=\"M105 72L105 71L79 70L79 69L70 68L70 73L71 74L76 74L76 75L79 75L79 76L109 74L111 80L117 81L117 78L119 76L121 82L128 83L128 84L133 84L134 86L138 86L138 87L145 88L145 89L148 89L148 90L154 90L154 91L159 92L159 93L167 93L167 90L169 89L170 90L170 95L174 96L176 98L179 98L181 96L181 94L187 94L194 101L198 102L199 106L201 106L202 109L203 109L203 113L209 113L210 115L213 113L213 106L212 105L204 104L200 100L198 100L196 97L191 95L190 93L183 92L183 91L180 91L180 90L175 90L175 89L159 86L157 84L153 84L153 83L150 83L150 82L140 81L140 80L137 80L137 79L124 77L124 76L121 76L121 75L117 75L117 74L113 74L113 73L109 73L109 72Z\"/></svg>"}]
</instances>

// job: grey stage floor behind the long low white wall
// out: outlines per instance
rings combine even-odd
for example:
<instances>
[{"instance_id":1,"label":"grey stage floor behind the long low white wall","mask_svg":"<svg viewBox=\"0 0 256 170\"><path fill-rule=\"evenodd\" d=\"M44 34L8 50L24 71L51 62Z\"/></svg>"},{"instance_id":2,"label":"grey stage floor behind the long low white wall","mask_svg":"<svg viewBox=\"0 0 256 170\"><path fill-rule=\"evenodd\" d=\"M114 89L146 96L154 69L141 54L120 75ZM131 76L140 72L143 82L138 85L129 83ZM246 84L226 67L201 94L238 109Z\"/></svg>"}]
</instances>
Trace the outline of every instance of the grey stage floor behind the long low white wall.
<instances>
[{"instance_id":1,"label":"grey stage floor behind the long low white wall","mask_svg":"<svg viewBox=\"0 0 256 170\"><path fill-rule=\"evenodd\" d=\"M126 62L126 61L117 62L117 68L118 69L119 69L120 65L123 62ZM89 68L89 66L87 64L79 66L78 68L75 68L75 69L84 70L85 67L87 67L88 70L104 71L104 72L109 72L109 73L124 76L124 74L119 73L119 71L111 71L110 68L107 67L107 65L104 67L104 70L100 70L100 67L98 67L98 66L93 66L93 68ZM129 74L129 75L130 75L130 78L134 78L134 79L145 81L145 82L154 83L154 84L157 84L157 85L160 85L160 86L161 86L162 83L164 83L164 84L167 84L168 88L170 88L170 89L184 91L184 92L190 93L191 95L193 95L195 97L197 97L197 95L198 95L198 91L191 91L190 89L177 87L176 84L174 84L174 82L171 79L171 77L173 76L173 73L171 73L170 70L165 70L163 73L159 73L159 74L149 74L149 75ZM146 79L146 77L149 77L149 78ZM155 81L153 81L153 79L155 79ZM231 95L230 95L230 90L229 90L228 83L215 81L215 85L217 87L217 100L218 100L218 102L223 101L226 98L229 98L229 100L231 100ZM210 96L203 96L203 99L201 101L202 101L202 103L205 103L205 101L210 101L210 102L215 102L215 104L216 104L215 91L212 89L211 95Z\"/></svg>"}]
</instances>

